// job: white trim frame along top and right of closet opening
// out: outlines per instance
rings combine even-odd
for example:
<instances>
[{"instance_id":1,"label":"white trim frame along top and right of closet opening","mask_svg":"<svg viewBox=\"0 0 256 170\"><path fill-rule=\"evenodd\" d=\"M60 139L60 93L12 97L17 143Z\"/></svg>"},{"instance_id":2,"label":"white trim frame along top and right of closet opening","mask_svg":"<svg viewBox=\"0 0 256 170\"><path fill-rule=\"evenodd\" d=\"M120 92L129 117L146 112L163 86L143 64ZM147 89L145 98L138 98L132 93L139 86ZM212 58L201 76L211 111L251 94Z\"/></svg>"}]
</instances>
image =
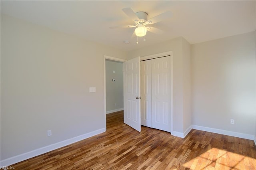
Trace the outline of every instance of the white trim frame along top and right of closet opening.
<instances>
[{"instance_id":1,"label":"white trim frame along top and right of closet opening","mask_svg":"<svg viewBox=\"0 0 256 170\"><path fill-rule=\"evenodd\" d=\"M158 57L164 57L170 55L170 66L171 66L171 133L173 132L173 55L172 51L166 51L163 53L157 53L153 55L146 55L144 57L140 57L140 61L146 60L146 59L154 59Z\"/></svg>"}]
</instances>

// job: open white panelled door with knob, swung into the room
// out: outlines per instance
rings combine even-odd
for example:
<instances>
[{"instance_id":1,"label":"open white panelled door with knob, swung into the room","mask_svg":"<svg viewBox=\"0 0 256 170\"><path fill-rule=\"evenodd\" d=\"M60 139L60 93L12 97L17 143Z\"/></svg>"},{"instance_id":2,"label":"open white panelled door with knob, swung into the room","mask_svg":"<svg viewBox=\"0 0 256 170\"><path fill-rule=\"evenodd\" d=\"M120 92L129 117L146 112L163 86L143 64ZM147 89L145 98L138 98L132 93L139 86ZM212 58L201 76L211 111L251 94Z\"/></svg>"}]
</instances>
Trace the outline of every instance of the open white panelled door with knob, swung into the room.
<instances>
[{"instance_id":1,"label":"open white panelled door with knob, swung into the room","mask_svg":"<svg viewBox=\"0 0 256 170\"><path fill-rule=\"evenodd\" d=\"M140 132L140 57L124 62L124 123Z\"/></svg>"}]
</instances>

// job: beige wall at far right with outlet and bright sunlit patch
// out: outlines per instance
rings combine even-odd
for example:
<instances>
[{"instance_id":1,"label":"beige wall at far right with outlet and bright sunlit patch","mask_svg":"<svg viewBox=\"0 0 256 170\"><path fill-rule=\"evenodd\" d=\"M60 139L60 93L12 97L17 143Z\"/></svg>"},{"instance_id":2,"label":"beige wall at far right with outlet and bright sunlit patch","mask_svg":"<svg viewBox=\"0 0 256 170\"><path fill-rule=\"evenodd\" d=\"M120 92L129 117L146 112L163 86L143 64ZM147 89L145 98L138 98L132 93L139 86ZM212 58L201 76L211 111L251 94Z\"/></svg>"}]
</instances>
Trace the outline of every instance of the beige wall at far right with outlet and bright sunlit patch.
<instances>
[{"instance_id":1,"label":"beige wall at far right with outlet and bright sunlit patch","mask_svg":"<svg viewBox=\"0 0 256 170\"><path fill-rule=\"evenodd\" d=\"M254 34L191 45L193 125L255 134Z\"/></svg>"}]
</instances>

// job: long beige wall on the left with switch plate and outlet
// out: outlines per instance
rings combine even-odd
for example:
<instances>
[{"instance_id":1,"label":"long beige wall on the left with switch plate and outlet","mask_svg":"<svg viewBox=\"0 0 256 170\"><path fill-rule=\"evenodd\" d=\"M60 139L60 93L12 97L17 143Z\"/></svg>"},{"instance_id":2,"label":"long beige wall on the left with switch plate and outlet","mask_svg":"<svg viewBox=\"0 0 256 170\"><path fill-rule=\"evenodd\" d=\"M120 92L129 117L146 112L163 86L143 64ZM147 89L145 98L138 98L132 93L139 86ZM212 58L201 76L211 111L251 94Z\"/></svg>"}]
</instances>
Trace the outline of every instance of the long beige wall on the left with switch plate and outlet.
<instances>
[{"instance_id":1,"label":"long beige wall on the left with switch plate and outlet","mask_svg":"<svg viewBox=\"0 0 256 170\"><path fill-rule=\"evenodd\" d=\"M104 55L126 57L1 14L1 160L105 128Z\"/></svg>"}]
</instances>

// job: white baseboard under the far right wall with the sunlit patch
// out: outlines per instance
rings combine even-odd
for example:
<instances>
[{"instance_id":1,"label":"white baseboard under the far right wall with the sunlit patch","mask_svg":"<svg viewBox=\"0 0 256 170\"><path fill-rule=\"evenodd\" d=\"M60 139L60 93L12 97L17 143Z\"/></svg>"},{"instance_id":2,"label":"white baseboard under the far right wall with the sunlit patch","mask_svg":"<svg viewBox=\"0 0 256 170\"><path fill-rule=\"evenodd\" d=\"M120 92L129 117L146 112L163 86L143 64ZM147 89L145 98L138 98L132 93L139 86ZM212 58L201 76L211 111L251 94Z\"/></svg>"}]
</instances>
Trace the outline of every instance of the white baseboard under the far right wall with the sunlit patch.
<instances>
[{"instance_id":1,"label":"white baseboard under the far right wall with the sunlit patch","mask_svg":"<svg viewBox=\"0 0 256 170\"><path fill-rule=\"evenodd\" d=\"M206 132L212 132L212 133L224 134L224 135L228 135L228 136L234 136L234 137L238 137L238 138L254 140L254 135L252 135L252 134L232 132L232 131L228 131L228 130L222 130L222 129L210 128L210 127L201 127L201 126L197 126L197 125L192 125L192 128L196 129L196 130L203 130Z\"/></svg>"}]
</instances>

